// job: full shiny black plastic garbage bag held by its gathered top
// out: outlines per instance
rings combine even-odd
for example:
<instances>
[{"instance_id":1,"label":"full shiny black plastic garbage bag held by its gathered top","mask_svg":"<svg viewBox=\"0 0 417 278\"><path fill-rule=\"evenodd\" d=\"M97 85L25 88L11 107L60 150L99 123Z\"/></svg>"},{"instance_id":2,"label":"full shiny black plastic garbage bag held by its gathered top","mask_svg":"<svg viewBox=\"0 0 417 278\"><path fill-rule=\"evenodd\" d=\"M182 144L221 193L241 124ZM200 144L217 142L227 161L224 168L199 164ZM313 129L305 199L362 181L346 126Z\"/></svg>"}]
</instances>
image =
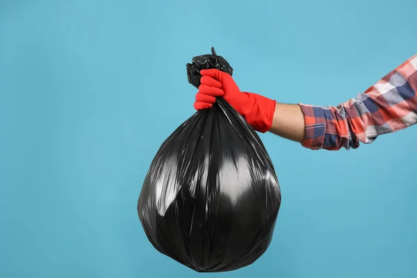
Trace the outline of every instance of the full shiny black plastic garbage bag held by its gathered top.
<instances>
[{"instance_id":1,"label":"full shiny black plastic garbage bag held by its gathered top","mask_svg":"<svg viewBox=\"0 0 417 278\"><path fill-rule=\"evenodd\" d=\"M224 58L197 56L199 70L232 74ZM158 150L138 201L156 250L197 272L250 265L267 250L281 204L279 183L256 131L221 97L181 124Z\"/></svg>"}]
</instances>

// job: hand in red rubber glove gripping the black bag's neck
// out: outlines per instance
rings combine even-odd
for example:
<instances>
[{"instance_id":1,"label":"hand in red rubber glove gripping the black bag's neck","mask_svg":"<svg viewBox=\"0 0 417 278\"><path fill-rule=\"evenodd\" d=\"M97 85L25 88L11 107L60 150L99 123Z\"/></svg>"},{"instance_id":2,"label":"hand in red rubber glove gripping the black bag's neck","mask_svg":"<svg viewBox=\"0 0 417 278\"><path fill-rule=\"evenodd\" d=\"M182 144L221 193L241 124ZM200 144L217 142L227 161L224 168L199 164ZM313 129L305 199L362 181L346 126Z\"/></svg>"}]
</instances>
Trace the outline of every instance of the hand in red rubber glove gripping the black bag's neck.
<instances>
[{"instance_id":1,"label":"hand in red rubber glove gripping the black bag's neck","mask_svg":"<svg viewBox=\"0 0 417 278\"><path fill-rule=\"evenodd\" d=\"M216 97L223 97L259 132L272 125L276 101L251 92L241 92L230 74L220 70L202 70L201 85L195 96L194 108L211 108Z\"/></svg>"}]
</instances>

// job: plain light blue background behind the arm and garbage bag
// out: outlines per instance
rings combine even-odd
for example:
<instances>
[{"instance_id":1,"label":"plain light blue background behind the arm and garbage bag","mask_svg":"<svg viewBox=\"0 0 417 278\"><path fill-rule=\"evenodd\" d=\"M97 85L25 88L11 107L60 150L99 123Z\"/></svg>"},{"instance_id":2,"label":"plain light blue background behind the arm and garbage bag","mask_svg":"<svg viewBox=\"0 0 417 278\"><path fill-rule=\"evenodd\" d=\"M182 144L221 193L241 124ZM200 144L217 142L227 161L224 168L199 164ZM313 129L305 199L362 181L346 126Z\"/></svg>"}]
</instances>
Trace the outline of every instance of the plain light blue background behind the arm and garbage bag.
<instances>
[{"instance_id":1,"label":"plain light blue background behind the arm and garbage bag","mask_svg":"<svg viewBox=\"0 0 417 278\"><path fill-rule=\"evenodd\" d=\"M195 111L214 46L240 88L337 105L417 53L415 0L0 1L0 277L417 277L417 127L357 150L262 135L283 202L270 249L198 274L148 243L136 202Z\"/></svg>"}]
</instances>

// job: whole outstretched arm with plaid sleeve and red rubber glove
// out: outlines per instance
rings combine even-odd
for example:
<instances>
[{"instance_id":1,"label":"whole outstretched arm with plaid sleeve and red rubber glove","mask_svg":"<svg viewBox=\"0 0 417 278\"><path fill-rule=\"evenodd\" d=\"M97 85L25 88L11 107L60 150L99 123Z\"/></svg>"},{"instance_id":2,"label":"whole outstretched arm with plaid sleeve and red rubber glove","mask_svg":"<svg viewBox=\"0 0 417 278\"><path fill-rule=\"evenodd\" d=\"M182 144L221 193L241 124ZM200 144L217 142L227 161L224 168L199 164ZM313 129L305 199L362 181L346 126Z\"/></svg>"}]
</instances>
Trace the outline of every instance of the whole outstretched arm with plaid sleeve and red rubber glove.
<instances>
[{"instance_id":1,"label":"whole outstretched arm with plaid sleeve and red rubber glove","mask_svg":"<svg viewBox=\"0 0 417 278\"><path fill-rule=\"evenodd\" d=\"M357 148L360 142L373 142L381 134L417 122L417 56L356 99L336 107L279 104L260 95L240 92L229 74L204 70L202 75L196 109L203 104L208 108L215 101L209 98L211 92L216 90L216 96L224 97L257 131L271 131L310 149Z\"/></svg>"}]
</instances>

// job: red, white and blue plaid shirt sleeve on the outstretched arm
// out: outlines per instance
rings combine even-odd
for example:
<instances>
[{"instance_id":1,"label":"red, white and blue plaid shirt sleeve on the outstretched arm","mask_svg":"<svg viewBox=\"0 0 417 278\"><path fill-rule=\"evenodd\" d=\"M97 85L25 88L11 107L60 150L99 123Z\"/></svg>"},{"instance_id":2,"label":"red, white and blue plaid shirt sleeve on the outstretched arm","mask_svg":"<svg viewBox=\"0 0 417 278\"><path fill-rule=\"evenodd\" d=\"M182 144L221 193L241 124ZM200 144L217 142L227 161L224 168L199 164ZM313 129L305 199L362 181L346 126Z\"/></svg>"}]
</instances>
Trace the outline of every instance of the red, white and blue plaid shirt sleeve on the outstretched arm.
<instances>
[{"instance_id":1,"label":"red, white and blue plaid shirt sleeve on the outstretched arm","mask_svg":"<svg viewBox=\"0 0 417 278\"><path fill-rule=\"evenodd\" d=\"M417 55L337 107L299 104L309 149L356 149L417 122Z\"/></svg>"}]
</instances>

